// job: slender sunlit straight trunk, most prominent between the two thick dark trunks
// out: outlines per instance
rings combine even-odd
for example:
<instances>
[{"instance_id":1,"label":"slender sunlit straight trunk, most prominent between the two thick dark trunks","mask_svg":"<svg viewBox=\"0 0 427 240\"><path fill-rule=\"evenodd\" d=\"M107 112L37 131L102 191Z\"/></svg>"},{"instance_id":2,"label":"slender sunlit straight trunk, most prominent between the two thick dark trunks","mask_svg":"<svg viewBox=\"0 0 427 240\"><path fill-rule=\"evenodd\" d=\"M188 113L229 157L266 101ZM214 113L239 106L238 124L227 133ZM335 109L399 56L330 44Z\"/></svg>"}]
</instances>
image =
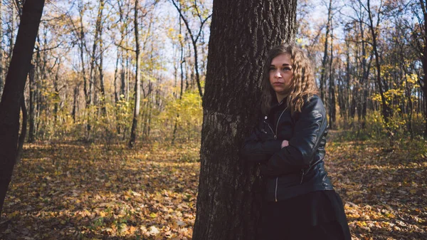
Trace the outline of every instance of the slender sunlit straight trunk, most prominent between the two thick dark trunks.
<instances>
[{"instance_id":1,"label":"slender sunlit straight trunk, most prominent between the two thick dark trunks","mask_svg":"<svg viewBox=\"0 0 427 240\"><path fill-rule=\"evenodd\" d=\"M139 74L139 65L141 63L140 56L140 46L139 46L139 27L138 27L138 0L135 0L135 44L136 44L136 58L137 62L135 63L135 108L134 108L134 117L132 120L132 129L130 130L130 141L129 147L135 145L137 138L137 126L138 126L138 117L139 117L139 104L141 102L141 75Z\"/></svg>"}]
</instances>

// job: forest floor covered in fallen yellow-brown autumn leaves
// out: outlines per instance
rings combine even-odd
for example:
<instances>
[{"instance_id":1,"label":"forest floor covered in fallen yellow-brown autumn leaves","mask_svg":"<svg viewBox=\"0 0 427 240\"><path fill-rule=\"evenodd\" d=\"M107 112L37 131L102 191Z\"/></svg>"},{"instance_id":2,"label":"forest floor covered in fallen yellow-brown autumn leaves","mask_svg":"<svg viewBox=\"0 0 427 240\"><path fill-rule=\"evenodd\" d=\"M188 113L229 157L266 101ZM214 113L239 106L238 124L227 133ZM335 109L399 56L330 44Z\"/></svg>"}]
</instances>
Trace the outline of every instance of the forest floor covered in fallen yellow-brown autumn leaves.
<instances>
[{"instance_id":1,"label":"forest floor covered in fallen yellow-brown autumn leaves","mask_svg":"<svg viewBox=\"0 0 427 240\"><path fill-rule=\"evenodd\" d=\"M326 167L353 239L427 239L427 147L332 132ZM191 239L199 147L25 145L0 239Z\"/></svg>"}]
</instances>

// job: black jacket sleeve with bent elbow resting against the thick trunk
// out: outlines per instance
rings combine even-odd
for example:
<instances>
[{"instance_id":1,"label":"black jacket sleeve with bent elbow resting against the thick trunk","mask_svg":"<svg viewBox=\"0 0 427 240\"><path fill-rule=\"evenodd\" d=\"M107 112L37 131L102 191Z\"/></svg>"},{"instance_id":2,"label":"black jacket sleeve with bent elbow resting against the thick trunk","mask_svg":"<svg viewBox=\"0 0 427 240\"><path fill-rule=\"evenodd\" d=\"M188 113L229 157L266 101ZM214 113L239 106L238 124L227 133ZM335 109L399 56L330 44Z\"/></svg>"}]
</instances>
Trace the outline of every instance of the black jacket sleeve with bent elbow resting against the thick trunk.
<instances>
[{"instance_id":1,"label":"black jacket sleeve with bent elbow resting against the thick trunk","mask_svg":"<svg viewBox=\"0 0 427 240\"><path fill-rule=\"evenodd\" d=\"M268 134L260 127L262 122L253 127L251 135L246 137L241 148L241 157L250 162L263 162L280 151L282 141L275 140L273 134Z\"/></svg>"}]
</instances>

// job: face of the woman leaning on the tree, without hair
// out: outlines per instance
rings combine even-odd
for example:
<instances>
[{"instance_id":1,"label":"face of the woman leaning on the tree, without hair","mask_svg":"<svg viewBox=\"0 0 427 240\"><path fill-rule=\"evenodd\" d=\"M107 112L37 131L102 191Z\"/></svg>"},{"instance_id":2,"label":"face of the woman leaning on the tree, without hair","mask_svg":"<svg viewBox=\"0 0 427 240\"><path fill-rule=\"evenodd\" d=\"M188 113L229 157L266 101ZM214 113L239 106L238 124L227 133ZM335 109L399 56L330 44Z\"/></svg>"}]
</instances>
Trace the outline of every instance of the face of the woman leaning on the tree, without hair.
<instances>
[{"instance_id":1,"label":"face of the woman leaning on the tree, without hair","mask_svg":"<svg viewBox=\"0 0 427 240\"><path fill-rule=\"evenodd\" d=\"M270 63L270 85L276 95L288 95L292 80L292 60L288 53L282 53Z\"/></svg>"}]
</instances>

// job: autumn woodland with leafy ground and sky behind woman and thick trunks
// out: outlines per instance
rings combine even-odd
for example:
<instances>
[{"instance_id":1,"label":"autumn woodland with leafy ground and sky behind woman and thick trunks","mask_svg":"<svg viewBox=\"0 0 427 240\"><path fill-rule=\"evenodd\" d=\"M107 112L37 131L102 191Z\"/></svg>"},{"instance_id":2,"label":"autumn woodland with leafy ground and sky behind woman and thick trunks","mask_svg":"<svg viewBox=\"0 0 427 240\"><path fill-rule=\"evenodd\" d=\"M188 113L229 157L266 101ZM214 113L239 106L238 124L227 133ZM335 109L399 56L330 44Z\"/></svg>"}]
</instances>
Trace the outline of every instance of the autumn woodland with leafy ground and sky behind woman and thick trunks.
<instances>
[{"instance_id":1,"label":"autumn woodland with leafy ground and sky behind woman and thick trunks","mask_svg":"<svg viewBox=\"0 0 427 240\"><path fill-rule=\"evenodd\" d=\"M0 93L22 4L0 1ZM46 2L1 239L191 239L211 9ZM298 1L354 239L426 238L426 16L423 0Z\"/></svg>"}]
</instances>

